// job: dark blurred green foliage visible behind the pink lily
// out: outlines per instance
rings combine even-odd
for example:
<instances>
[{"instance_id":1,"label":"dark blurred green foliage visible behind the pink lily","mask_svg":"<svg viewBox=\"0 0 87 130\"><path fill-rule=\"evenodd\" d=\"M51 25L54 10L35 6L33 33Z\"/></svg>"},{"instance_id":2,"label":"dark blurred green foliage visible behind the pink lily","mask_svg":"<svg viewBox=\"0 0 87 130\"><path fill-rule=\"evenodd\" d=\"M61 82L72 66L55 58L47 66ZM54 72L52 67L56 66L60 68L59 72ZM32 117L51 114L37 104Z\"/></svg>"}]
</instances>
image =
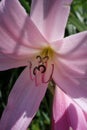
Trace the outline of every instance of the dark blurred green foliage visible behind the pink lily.
<instances>
[{"instance_id":1,"label":"dark blurred green foliage visible behind the pink lily","mask_svg":"<svg viewBox=\"0 0 87 130\"><path fill-rule=\"evenodd\" d=\"M31 0L20 0L21 4L30 12ZM65 36L87 30L87 0L73 0ZM8 95L23 68L0 72L0 117L7 103ZM28 130L49 130L51 125L51 106L53 95L49 91L40 105Z\"/></svg>"}]
</instances>

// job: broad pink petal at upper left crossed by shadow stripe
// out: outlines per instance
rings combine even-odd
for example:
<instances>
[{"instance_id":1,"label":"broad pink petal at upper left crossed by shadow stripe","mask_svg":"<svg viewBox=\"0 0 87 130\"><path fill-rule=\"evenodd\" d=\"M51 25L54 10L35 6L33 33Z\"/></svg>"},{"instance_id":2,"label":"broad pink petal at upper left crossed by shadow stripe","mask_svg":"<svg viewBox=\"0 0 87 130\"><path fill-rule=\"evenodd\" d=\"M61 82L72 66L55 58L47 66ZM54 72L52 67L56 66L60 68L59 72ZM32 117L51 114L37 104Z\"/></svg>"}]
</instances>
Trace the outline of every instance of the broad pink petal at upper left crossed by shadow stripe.
<instances>
[{"instance_id":1,"label":"broad pink petal at upper left crossed by shadow stripe","mask_svg":"<svg viewBox=\"0 0 87 130\"><path fill-rule=\"evenodd\" d=\"M1 2L0 28L0 34L5 32L11 39L17 40L19 45L23 44L35 48L46 42L17 0L3 0Z\"/></svg>"}]
</instances>

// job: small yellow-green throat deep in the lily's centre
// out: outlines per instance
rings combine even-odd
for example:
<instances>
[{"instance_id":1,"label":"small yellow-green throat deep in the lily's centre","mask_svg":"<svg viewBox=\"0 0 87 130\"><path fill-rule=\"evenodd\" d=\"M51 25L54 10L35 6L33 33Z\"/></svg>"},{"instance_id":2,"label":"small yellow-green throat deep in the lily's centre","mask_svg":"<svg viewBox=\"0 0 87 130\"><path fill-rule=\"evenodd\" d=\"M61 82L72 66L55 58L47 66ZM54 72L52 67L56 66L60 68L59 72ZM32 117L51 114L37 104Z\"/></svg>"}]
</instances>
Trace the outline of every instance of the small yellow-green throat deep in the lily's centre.
<instances>
[{"instance_id":1,"label":"small yellow-green throat deep in the lily's centre","mask_svg":"<svg viewBox=\"0 0 87 130\"><path fill-rule=\"evenodd\" d=\"M52 59L54 56L54 50L50 46L44 47L42 48L40 55L42 57L48 56L49 58Z\"/></svg>"}]
</instances>

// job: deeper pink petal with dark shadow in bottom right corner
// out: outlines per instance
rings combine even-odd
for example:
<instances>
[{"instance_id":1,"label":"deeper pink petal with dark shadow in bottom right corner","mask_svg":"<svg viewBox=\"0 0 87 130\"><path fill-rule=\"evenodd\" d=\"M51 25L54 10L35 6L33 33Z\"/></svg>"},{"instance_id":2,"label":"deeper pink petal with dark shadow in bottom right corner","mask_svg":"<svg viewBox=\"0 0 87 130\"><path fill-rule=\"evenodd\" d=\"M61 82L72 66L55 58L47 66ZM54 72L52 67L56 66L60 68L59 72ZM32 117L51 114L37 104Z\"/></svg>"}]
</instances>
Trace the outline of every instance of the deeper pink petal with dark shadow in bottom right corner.
<instances>
[{"instance_id":1,"label":"deeper pink petal with dark shadow in bottom right corner","mask_svg":"<svg viewBox=\"0 0 87 130\"><path fill-rule=\"evenodd\" d=\"M58 86L53 102L52 127L52 130L87 130L84 112Z\"/></svg>"}]
</instances>

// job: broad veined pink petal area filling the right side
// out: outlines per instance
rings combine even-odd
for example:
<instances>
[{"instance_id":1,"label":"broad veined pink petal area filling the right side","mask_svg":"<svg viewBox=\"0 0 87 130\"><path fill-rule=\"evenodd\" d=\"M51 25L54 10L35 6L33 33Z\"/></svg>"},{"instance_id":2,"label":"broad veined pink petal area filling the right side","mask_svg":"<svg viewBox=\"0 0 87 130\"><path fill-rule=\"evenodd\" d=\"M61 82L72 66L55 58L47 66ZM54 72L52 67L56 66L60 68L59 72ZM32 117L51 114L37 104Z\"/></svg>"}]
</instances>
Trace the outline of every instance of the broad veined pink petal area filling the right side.
<instances>
[{"instance_id":1,"label":"broad veined pink petal area filling the right side","mask_svg":"<svg viewBox=\"0 0 87 130\"><path fill-rule=\"evenodd\" d=\"M87 112L87 32L63 40L53 79Z\"/></svg>"}]
</instances>

